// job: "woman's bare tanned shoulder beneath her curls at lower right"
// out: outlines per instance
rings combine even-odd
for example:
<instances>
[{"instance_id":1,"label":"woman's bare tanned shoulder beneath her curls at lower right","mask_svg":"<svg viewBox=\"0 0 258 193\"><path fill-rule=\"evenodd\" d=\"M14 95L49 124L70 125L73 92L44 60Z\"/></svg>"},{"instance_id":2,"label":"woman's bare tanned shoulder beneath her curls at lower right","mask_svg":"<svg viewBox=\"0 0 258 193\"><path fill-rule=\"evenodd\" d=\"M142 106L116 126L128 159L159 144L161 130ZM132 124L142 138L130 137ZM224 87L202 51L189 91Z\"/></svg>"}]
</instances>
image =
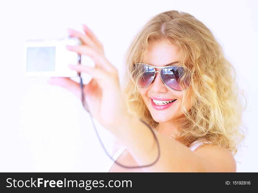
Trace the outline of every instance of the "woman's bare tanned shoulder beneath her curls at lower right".
<instances>
[{"instance_id":1,"label":"woman's bare tanned shoulder beneath her curls at lower right","mask_svg":"<svg viewBox=\"0 0 258 193\"><path fill-rule=\"evenodd\" d=\"M205 172L236 172L235 158L223 146L203 144L194 152L201 158Z\"/></svg>"}]
</instances>

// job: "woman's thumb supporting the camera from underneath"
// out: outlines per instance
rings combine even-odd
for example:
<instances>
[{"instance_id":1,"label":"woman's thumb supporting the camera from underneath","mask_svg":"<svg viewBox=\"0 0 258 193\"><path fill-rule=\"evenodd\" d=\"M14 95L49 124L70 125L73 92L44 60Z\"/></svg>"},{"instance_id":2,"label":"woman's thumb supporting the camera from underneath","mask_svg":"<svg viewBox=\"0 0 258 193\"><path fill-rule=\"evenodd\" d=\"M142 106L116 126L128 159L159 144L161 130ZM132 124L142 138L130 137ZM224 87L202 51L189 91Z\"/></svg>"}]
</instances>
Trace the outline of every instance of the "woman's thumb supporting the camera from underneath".
<instances>
[{"instance_id":1,"label":"woman's thumb supporting the camera from underneath","mask_svg":"<svg viewBox=\"0 0 258 193\"><path fill-rule=\"evenodd\" d=\"M71 80L70 78L65 78L65 77L51 77L48 81L48 84L52 84L52 85L58 85L61 86L63 88L66 88L67 90L71 91L72 93L74 93L74 95L81 99L81 87L79 85L79 83Z\"/></svg>"}]
</instances>

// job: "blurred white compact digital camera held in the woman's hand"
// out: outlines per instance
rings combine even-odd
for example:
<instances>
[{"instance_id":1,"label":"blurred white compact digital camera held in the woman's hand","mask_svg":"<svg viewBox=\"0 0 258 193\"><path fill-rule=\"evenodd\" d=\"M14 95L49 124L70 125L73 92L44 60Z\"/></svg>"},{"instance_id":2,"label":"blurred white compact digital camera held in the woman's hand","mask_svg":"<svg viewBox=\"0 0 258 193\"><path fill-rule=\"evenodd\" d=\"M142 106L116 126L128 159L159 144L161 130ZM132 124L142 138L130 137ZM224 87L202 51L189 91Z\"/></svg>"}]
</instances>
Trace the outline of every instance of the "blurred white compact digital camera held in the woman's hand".
<instances>
[{"instance_id":1,"label":"blurred white compact digital camera held in the woman's hand","mask_svg":"<svg viewBox=\"0 0 258 193\"><path fill-rule=\"evenodd\" d=\"M69 64L78 64L80 56L66 49L65 45L77 46L82 42L76 37L62 39L28 40L24 43L25 76L75 77L77 72Z\"/></svg>"}]
</instances>

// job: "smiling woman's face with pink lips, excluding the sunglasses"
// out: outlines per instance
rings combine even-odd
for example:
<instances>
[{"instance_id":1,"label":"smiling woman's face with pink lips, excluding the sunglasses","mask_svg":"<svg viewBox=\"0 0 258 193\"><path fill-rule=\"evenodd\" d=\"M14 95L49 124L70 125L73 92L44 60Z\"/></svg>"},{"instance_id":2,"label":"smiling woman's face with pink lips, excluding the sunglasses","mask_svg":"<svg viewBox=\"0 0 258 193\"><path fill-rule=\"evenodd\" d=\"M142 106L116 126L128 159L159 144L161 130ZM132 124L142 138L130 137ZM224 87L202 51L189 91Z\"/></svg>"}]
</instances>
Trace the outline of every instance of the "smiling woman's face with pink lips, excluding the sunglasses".
<instances>
[{"instance_id":1,"label":"smiling woman's face with pink lips, excluding the sunglasses","mask_svg":"<svg viewBox=\"0 0 258 193\"><path fill-rule=\"evenodd\" d=\"M166 66L169 63L179 61L177 55L177 48L169 40L150 42L149 50L145 56L147 64L152 66ZM160 71L160 68L155 68L156 71ZM189 92L190 87L186 90ZM140 94L149 109L152 118L159 123L165 123L175 121L177 118L184 116L181 110L183 92L174 91L168 88L160 77L159 73L156 73L155 80L146 88L139 88ZM168 101L174 100L169 105L155 105L152 99ZM155 101L156 102L156 101ZM168 108L167 108L168 107ZM189 100L186 99L186 110L190 109Z\"/></svg>"}]
</instances>

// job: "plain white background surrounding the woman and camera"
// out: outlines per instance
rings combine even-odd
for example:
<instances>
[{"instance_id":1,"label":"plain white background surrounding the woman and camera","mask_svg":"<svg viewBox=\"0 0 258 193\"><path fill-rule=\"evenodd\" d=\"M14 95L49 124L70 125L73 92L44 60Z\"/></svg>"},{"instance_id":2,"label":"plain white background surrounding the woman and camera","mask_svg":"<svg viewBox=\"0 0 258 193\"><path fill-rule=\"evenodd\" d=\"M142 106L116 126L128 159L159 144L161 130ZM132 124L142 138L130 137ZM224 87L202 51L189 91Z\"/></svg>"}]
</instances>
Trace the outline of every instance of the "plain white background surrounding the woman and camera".
<instances>
[{"instance_id":1,"label":"plain white background surrounding the woman and camera","mask_svg":"<svg viewBox=\"0 0 258 193\"><path fill-rule=\"evenodd\" d=\"M0 172L107 172L110 164L79 100L48 78L23 77L25 40L60 38L86 24L121 76L135 33L168 10L206 24L235 67L249 130L235 156L237 171L258 172L257 8L257 1L0 1Z\"/></svg>"}]
</instances>

